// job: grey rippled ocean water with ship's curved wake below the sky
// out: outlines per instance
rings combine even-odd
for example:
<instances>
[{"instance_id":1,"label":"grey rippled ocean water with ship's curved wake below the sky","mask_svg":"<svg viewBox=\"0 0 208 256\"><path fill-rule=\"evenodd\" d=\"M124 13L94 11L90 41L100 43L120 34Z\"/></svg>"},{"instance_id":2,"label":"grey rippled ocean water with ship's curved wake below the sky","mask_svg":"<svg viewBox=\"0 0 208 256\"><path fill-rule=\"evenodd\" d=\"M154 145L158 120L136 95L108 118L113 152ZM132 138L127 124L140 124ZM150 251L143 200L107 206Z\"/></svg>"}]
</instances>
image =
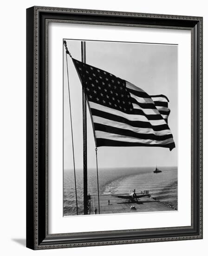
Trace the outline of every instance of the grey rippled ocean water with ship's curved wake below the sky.
<instances>
[{"instance_id":1,"label":"grey rippled ocean water with ship's curved wake below the sky","mask_svg":"<svg viewBox=\"0 0 208 256\"><path fill-rule=\"evenodd\" d=\"M161 202L169 203L177 208L177 168L160 168L162 173L154 174L155 168L103 168L98 169L99 193L119 194L129 193L129 189L136 189L136 193L150 190L152 197ZM83 205L83 170L76 170L78 214L84 212ZM64 216L77 215L74 185L74 171L64 171ZM97 171L88 169L88 193L97 194Z\"/></svg>"}]
</instances>

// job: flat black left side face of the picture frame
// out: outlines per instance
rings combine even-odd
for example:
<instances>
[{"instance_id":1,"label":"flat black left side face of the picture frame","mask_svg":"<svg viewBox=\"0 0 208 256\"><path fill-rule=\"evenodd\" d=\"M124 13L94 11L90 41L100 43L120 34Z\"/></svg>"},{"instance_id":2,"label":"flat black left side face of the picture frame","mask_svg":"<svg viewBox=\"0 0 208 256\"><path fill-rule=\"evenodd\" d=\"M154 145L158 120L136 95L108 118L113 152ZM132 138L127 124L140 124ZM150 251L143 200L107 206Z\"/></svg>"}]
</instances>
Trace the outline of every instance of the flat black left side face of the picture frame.
<instances>
[{"instance_id":1,"label":"flat black left side face of the picture frame","mask_svg":"<svg viewBox=\"0 0 208 256\"><path fill-rule=\"evenodd\" d=\"M34 8L26 10L26 247L34 249Z\"/></svg>"}]
</instances>

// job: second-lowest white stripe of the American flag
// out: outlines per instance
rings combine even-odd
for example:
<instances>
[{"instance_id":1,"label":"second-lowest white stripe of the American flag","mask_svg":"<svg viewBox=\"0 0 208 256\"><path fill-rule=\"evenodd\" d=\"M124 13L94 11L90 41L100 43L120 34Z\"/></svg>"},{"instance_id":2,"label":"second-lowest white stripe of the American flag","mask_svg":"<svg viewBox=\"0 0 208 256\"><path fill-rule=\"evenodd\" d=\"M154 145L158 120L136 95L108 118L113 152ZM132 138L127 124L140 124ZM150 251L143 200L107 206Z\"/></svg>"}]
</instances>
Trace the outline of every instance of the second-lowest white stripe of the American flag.
<instances>
[{"instance_id":1,"label":"second-lowest white stripe of the American flag","mask_svg":"<svg viewBox=\"0 0 208 256\"><path fill-rule=\"evenodd\" d=\"M118 122L118 121L113 121L110 119L106 119L103 117L100 117L99 115L93 115L93 121L94 123L98 124L104 124L112 127L117 127L117 128L122 128L122 129L128 129L131 130L135 133L141 133L141 134L154 134L157 136L162 136L162 135L167 135L171 134L170 130L161 130L161 131L154 131L152 128L140 128L140 127L134 127L132 125L123 123L123 122Z\"/></svg>"}]
</instances>

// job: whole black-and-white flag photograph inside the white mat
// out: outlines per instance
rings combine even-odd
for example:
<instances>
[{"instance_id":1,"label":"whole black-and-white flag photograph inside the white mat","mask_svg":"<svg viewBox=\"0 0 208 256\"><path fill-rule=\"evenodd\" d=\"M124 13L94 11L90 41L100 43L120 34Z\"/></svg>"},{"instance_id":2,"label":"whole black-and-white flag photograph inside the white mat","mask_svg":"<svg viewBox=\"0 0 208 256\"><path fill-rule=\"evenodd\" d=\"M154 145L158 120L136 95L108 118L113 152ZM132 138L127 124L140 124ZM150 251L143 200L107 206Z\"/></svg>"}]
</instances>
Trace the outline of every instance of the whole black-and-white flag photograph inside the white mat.
<instances>
[{"instance_id":1,"label":"whole black-and-white flag photograph inside the white mat","mask_svg":"<svg viewBox=\"0 0 208 256\"><path fill-rule=\"evenodd\" d=\"M63 39L63 216L178 210L178 46Z\"/></svg>"}]
</instances>

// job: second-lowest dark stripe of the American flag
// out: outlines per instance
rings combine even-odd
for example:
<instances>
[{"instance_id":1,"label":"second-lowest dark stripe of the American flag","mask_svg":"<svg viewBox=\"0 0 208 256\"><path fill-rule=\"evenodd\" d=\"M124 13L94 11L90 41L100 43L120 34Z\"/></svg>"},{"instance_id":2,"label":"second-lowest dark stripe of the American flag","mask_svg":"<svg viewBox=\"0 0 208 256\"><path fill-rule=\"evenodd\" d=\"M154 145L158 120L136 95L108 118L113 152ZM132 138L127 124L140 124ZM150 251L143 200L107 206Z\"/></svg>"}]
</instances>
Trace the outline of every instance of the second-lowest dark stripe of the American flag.
<instances>
[{"instance_id":1,"label":"second-lowest dark stripe of the American flag","mask_svg":"<svg viewBox=\"0 0 208 256\"><path fill-rule=\"evenodd\" d=\"M128 137L144 139L144 140L165 141L167 139L173 138L172 134L161 135L161 136L157 136L155 134L142 134L142 133L137 133L137 132L131 131L129 129L112 127L112 126L108 126L108 125L104 125L104 124L99 124L96 122L94 122L94 128L95 128L96 132L103 131L103 132L108 132L110 134L124 135L124 136L128 136Z\"/></svg>"}]
</instances>

